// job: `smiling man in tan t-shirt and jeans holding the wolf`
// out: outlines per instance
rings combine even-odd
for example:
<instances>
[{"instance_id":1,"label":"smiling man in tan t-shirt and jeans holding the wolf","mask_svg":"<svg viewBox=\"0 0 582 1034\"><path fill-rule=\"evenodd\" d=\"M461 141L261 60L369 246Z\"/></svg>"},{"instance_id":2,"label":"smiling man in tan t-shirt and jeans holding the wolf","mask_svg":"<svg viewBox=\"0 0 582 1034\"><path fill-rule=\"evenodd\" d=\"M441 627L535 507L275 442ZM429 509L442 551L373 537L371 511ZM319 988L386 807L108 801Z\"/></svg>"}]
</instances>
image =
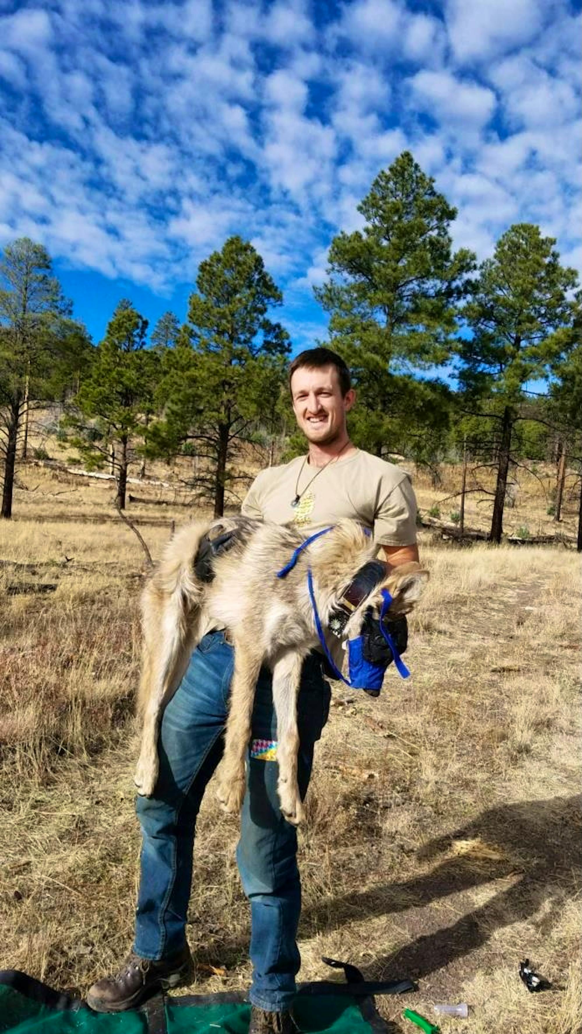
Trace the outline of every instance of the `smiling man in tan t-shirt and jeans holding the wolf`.
<instances>
[{"instance_id":1,"label":"smiling man in tan t-shirt and jeans holding the wolf","mask_svg":"<svg viewBox=\"0 0 582 1034\"><path fill-rule=\"evenodd\" d=\"M416 500L407 476L349 440L346 416L355 392L343 360L329 348L301 353L289 368L289 388L308 453L263 470L242 513L295 524L306 533L312 525L351 517L370 528L391 567L418 560ZM137 798L136 805L143 847L133 950L117 974L91 987L87 1001L99 1011L132 1008L160 986L177 986L191 975L185 923L194 828L206 786L222 754L233 667L233 648L224 634L210 632L194 650L164 710L155 795ZM302 797L329 704L323 658L313 651L304 663L298 701ZM279 810L276 741L271 676L263 669L237 849L251 907L250 1034L296 1030L290 1006L300 967L296 935L301 887L297 831Z\"/></svg>"}]
</instances>

